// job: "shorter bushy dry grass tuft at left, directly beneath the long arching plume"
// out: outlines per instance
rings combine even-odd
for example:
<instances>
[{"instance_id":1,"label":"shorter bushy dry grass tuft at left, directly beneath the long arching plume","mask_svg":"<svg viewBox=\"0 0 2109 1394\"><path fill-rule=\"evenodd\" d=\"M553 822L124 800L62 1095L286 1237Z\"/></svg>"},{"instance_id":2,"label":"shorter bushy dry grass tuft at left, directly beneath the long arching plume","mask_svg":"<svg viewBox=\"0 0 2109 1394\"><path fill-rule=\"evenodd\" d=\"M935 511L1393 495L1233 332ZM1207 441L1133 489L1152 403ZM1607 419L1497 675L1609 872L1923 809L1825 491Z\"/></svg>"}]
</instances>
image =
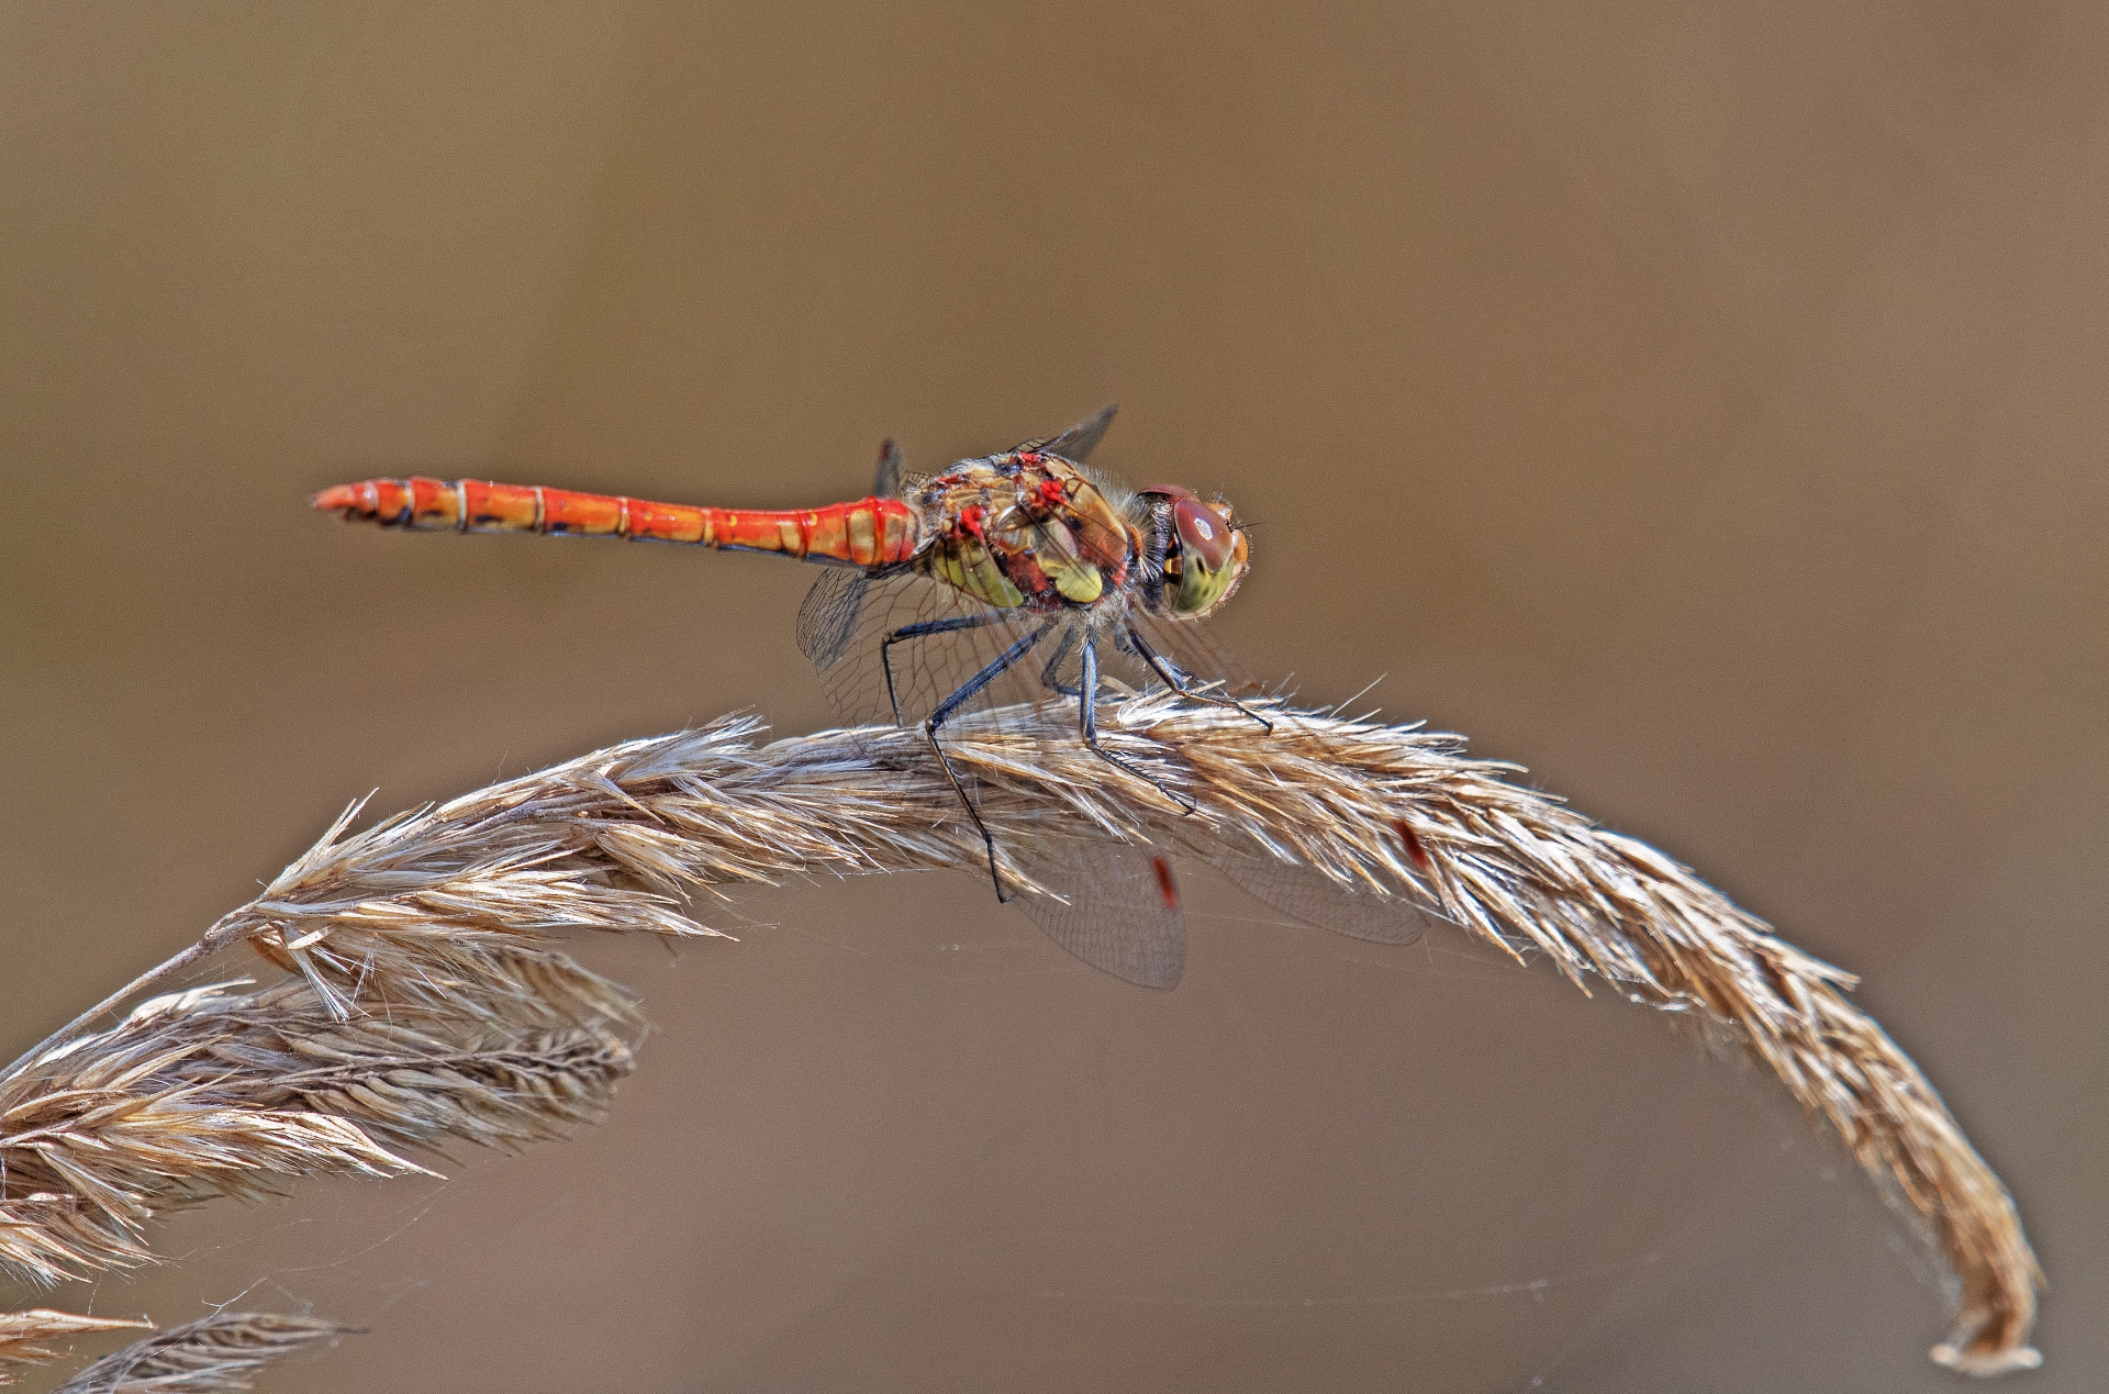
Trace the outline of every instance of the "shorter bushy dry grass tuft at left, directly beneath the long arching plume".
<instances>
[{"instance_id":1,"label":"shorter bushy dry grass tuft at left, directly beneath the long arching plume","mask_svg":"<svg viewBox=\"0 0 2109 1394\"><path fill-rule=\"evenodd\" d=\"M129 1267L152 1257L156 1213L426 1170L390 1147L521 1147L595 1122L631 1071L610 1031L631 1000L550 951L487 968L369 976L378 1010L348 1021L297 976L198 987L21 1061L0 1076L0 1265L38 1282Z\"/></svg>"}]
</instances>

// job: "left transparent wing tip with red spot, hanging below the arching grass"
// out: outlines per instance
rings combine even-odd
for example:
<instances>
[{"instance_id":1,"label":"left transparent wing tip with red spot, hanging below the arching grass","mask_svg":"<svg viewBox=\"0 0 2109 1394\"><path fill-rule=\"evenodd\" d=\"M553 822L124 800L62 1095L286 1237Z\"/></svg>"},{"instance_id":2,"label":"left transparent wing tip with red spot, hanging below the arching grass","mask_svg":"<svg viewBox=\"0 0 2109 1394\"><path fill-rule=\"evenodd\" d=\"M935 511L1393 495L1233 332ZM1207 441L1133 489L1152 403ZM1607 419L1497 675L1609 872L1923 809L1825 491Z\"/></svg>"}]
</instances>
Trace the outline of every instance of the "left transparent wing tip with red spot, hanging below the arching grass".
<instances>
[{"instance_id":1,"label":"left transparent wing tip with red spot, hanging below the arching grass","mask_svg":"<svg viewBox=\"0 0 2109 1394\"><path fill-rule=\"evenodd\" d=\"M1042 844L1027 873L1067 901L1019 896L1048 938L1092 968L1158 991L1185 972L1185 915L1170 860L1122 841Z\"/></svg>"}]
</instances>

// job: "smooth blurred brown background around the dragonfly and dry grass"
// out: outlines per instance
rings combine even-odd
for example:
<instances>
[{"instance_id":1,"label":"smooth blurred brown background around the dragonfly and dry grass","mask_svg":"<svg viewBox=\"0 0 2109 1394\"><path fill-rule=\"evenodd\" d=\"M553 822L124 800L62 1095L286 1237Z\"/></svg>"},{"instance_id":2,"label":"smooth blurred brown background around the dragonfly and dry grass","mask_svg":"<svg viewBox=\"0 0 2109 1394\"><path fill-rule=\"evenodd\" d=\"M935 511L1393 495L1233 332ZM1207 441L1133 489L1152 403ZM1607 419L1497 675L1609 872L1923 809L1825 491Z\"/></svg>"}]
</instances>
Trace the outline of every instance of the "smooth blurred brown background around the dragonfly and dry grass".
<instances>
[{"instance_id":1,"label":"smooth blurred brown background around the dragonfly and dry grass","mask_svg":"<svg viewBox=\"0 0 2109 1394\"><path fill-rule=\"evenodd\" d=\"M2105 59L2088 4L8 4L0 1054L367 789L827 723L797 565L312 489L810 504L1118 399L1103 464L1261 523L1257 671L1388 675L1866 976L2050 1270L2012 1388L2101 1388ZM1765 1078L1189 882L1170 995L962 875L593 945L660 1023L605 1128L53 1299L371 1327L270 1390L1949 1383Z\"/></svg>"}]
</instances>

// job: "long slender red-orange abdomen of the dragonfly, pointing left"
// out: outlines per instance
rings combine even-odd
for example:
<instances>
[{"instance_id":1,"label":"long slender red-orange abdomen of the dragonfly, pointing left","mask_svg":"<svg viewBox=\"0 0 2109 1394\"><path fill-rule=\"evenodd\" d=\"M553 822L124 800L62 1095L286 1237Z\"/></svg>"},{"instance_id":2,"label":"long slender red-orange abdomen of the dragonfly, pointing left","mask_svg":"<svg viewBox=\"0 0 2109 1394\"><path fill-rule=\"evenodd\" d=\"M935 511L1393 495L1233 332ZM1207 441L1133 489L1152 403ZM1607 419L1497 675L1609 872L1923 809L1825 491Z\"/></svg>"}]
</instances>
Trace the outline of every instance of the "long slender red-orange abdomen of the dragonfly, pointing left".
<instances>
[{"instance_id":1,"label":"long slender red-orange abdomen of the dragonfly, pointing left","mask_svg":"<svg viewBox=\"0 0 2109 1394\"><path fill-rule=\"evenodd\" d=\"M907 561L922 544L922 519L898 498L860 498L825 508L694 508L481 479L367 479L323 489L314 506L382 527L690 542L825 557L860 567Z\"/></svg>"}]
</instances>

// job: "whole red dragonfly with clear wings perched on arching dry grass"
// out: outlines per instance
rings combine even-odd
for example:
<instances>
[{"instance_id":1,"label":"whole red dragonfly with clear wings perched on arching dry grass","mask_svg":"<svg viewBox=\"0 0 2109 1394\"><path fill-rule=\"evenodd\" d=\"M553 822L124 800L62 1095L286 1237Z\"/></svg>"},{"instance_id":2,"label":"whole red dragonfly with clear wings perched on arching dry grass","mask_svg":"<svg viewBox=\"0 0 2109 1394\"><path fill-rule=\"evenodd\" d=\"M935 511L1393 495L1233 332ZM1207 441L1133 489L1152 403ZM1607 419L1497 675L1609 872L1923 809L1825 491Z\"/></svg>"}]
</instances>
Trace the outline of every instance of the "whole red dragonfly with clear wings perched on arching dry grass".
<instances>
[{"instance_id":1,"label":"whole red dragonfly with clear wings perched on arching dry grass","mask_svg":"<svg viewBox=\"0 0 2109 1394\"><path fill-rule=\"evenodd\" d=\"M920 725L1010 901L972 776L945 751L947 723L1014 704L1073 702L1078 740L1111 770L1166 787L1099 740L1107 694L1164 688L1234 709L1270 732L1257 692L1200 622L1251 567L1246 525L1183 485L1130 489L1092 468L1114 407L939 475L903 472L888 441L871 493L818 508L707 508L477 479L367 479L314 496L348 521L420 531L531 531L778 553L827 572L799 607L797 643L848 723ZM1270 709L1276 711L1276 709ZM1278 717L1276 717L1278 719ZM1166 856L1114 839L1063 839L1012 856L1046 890L1023 907L1086 964L1168 989L1185 968L1179 882ZM1232 882L1301 924L1411 943L1419 913L1289 863L1225 852Z\"/></svg>"}]
</instances>

